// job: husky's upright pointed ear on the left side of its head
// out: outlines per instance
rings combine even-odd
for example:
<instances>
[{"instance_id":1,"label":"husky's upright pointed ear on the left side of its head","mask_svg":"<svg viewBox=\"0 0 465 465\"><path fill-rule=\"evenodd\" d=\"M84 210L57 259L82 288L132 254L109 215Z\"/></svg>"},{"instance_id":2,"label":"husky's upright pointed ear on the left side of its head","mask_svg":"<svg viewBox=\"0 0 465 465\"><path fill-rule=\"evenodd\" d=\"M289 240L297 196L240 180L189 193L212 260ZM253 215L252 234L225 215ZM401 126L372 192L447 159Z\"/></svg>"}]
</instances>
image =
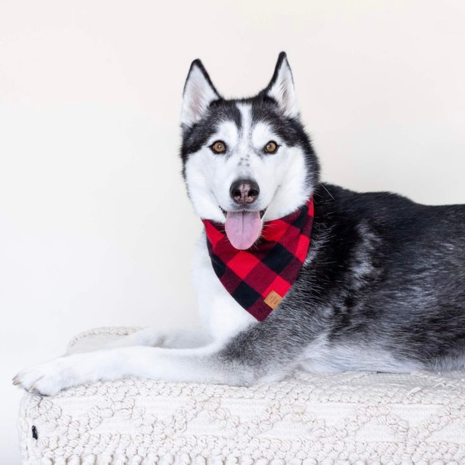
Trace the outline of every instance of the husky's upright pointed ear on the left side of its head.
<instances>
[{"instance_id":1,"label":"husky's upright pointed ear on the left side of its head","mask_svg":"<svg viewBox=\"0 0 465 465\"><path fill-rule=\"evenodd\" d=\"M194 60L184 85L181 126L192 127L202 119L213 100L221 97L200 60Z\"/></svg>"}]
</instances>

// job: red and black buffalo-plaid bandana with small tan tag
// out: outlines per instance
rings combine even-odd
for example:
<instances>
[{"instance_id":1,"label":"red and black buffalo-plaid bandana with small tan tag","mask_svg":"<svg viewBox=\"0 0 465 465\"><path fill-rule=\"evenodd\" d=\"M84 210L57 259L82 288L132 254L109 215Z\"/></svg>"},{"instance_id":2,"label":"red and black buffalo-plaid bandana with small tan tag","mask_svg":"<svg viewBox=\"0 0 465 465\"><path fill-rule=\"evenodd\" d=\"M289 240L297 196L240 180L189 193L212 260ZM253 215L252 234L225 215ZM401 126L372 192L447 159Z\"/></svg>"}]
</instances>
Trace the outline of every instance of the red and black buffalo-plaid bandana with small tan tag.
<instances>
[{"instance_id":1,"label":"red and black buffalo-plaid bandana with small tan tag","mask_svg":"<svg viewBox=\"0 0 465 465\"><path fill-rule=\"evenodd\" d=\"M225 225L202 220L208 253L221 284L253 317L263 321L297 278L310 246L313 200L290 215L266 221L248 250L234 248Z\"/></svg>"}]
</instances>

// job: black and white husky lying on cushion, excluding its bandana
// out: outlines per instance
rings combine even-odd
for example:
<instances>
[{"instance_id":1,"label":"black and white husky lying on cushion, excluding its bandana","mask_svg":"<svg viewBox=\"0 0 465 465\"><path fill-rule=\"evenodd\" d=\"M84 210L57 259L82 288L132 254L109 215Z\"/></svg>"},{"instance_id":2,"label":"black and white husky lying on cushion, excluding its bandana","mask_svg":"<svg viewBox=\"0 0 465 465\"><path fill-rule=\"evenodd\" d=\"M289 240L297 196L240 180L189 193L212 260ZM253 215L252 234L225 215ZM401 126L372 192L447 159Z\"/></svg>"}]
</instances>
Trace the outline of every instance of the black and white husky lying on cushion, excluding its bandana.
<instances>
[{"instance_id":1,"label":"black and white husky lying on cushion, excluding its bandana","mask_svg":"<svg viewBox=\"0 0 465 465\"><path fill-rule=\"evenodd\" d=\"M205 332L145 329L20 372L14 384L51 395L126 376L251 385L296 367L465 368L465 206L424 206L320 182L285 53L268 86L238 100L221 97L193 61L181 126L194 209L226 224L238 249L253 250L266 222L313 199L311 242L292 287L258 321L220 282L203 233L194 275Z\"/></svg>"}]
</instances>

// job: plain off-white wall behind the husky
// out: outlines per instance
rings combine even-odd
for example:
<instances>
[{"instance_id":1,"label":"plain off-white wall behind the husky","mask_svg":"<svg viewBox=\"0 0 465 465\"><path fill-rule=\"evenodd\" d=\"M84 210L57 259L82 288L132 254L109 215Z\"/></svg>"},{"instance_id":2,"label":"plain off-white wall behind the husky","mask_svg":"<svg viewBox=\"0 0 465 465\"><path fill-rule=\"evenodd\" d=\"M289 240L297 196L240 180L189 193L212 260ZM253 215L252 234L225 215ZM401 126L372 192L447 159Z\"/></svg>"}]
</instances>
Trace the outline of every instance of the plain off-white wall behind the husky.
<instances>
[{"instance_id":1,"label":"plain off-white wall behind the husky","mask_svg":"<svg viewBox=\"0 0 465 465\"><path fill-rule=\"evenodd\" d=\"M190 62L252 94L286 50L324 179L465 203L465 3L0 0L0 462L20 369L76 332L195 321Z\"/></svg>"}]
</instances>

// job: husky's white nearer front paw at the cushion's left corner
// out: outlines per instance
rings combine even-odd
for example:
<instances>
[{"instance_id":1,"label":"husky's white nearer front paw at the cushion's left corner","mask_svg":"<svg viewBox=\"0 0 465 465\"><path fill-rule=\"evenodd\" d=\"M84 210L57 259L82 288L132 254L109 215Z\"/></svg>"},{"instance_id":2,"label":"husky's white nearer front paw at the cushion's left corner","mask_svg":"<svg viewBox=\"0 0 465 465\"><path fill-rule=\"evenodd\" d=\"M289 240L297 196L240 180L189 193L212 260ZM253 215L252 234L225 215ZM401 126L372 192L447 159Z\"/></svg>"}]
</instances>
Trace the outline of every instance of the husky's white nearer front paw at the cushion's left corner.
<instances>
[{"instance_id":1,"label":"husky's white nearer front paw at the cushion's left corner","mask_svg":"<svg viewBox=\"0 0 465 465\"><path fill-rule=\"evenodd\" d=\"M71 357L60 357L50 362L36 365L18 373L13 385L19 385L27 392L43 396L53 396L66 387L79 384L77 372Z\"/></svg>"}]
</instances>

